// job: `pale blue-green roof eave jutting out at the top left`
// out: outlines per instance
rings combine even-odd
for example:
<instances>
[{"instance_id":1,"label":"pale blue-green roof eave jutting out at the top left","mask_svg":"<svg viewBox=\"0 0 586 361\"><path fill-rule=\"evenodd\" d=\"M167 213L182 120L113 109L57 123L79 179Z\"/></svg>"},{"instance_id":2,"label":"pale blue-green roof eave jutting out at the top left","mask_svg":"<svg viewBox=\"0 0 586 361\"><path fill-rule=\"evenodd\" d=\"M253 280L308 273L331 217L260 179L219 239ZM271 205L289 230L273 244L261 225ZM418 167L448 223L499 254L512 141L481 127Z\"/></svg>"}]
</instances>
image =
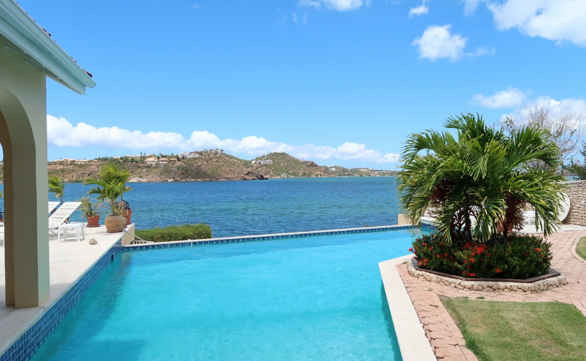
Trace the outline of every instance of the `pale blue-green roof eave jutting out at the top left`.
<instances>
[{"instance_id":1,"label":"pale blue-green roof eave jutting out at the top left","mask_svg":"<svg viewBox=\"0 0 586 361\"><path fill-rule=\"evenodd\" d=\"M96 82L13 0L0 0L0 40L66 87L86 94Z\"/></svg>"}]
</instances>

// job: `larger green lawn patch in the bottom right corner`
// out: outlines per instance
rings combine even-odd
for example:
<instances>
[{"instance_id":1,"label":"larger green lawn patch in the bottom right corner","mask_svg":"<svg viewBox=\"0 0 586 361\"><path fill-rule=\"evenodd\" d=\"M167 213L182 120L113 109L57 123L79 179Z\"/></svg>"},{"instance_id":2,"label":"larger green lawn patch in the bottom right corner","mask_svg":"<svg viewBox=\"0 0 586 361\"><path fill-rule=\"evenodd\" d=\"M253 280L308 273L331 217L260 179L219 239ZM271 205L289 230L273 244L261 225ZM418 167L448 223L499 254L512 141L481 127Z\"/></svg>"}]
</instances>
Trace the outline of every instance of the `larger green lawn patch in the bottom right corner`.
<instances>
[{"instance_id":1,"label":"larger green lawn patch in the bottom right corner","mask_svg":"<svg viewBox=\"0 0 586 361\"><path fill-rule=\"evenodd\" d=\"M561 302L442 300L480 361L584 361L586 318Z\"/></svg>"}]
</instances>

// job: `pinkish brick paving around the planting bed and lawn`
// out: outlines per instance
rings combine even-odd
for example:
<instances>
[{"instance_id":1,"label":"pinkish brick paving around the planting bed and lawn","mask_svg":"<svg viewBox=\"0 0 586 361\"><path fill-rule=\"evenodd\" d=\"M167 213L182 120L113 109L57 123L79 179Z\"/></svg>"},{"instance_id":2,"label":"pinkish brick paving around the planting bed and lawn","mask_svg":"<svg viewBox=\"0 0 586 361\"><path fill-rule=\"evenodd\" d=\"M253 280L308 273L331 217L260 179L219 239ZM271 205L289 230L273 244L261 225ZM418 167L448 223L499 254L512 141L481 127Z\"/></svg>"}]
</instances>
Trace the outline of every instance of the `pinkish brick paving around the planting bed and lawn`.
<instances>
[{"instance_id":1,"label":"pinkish brick paving around the planting bed and lawn","mask_svg":"<svg viewBox=\"0 0 586 361\"><path fill-rule=\"evenodd\" d=\"M464 338L438 296L469 298L485 297L486 300L514 302L560 301L574 304L586 316L586 261L575 254L575 247L586 231L558 232L550 236L553 244L551 267L563 274L568 284L540 293L512 291L464 291L412 277L407 264L397 265L401 279L411 297L411 302L434 349L441 360L478 361L465 347Z\"/></svg>"}]
</instances>

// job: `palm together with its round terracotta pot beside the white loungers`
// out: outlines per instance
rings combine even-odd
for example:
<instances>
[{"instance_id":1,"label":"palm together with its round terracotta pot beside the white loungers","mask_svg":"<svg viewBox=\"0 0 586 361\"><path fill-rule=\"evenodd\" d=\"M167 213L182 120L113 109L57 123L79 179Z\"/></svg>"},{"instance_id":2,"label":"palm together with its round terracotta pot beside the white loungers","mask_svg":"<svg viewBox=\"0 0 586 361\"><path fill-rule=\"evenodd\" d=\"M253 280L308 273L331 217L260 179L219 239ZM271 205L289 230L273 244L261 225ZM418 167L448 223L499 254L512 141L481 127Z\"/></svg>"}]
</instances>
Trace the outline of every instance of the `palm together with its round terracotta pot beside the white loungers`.
<instances>
[{"instance_id":1,"label":"palm together with its round terracotta pot beside the white loungers","mask_svg":"<svg viewBox=\"0 0 586 361\"><path fill-rule=\"evenodd\" d=\"M98 177L86 178L84 185L96 185L87 194L97 194L97 200L106 202L110 214L106 216L104 225L108 232L121 232L126 224L124 202L118 201L125 192L132 190L126 185L130 176L128 169L120 170L114 164L107 164Z\"/></svg>"}]
</instances>

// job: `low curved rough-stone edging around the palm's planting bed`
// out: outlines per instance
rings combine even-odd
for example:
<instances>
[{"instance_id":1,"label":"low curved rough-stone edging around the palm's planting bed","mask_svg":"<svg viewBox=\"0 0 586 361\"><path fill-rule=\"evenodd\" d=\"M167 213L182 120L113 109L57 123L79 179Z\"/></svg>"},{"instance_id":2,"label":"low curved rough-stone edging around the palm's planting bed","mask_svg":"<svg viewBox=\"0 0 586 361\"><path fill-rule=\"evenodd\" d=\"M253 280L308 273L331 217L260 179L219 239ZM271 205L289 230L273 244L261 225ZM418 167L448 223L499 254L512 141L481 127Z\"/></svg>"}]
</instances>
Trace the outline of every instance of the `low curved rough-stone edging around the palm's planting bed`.
<instances>
[{"instance_id":1,"label":"low curved rough-stone edging around the palm's planting bed","mask_svg":"<svg viewBox=\"0 0 586 361\"><path fill-rule=\"evenodd\" d=\"M413 263L407 262L407 270L413 277L424 279L434 283L444 284L445 286L458 288L459 290L468 291L508 291L508 292L541 292L549 290L550 288L561 287L567 284L565 276L560 274L557 277L535 281L532 283L517 283L517 282L488 282L488 281L461 281L451 279L450 277L439 276L437 274L428 273L415 269Z\"/></svg>"}]
</instances>

